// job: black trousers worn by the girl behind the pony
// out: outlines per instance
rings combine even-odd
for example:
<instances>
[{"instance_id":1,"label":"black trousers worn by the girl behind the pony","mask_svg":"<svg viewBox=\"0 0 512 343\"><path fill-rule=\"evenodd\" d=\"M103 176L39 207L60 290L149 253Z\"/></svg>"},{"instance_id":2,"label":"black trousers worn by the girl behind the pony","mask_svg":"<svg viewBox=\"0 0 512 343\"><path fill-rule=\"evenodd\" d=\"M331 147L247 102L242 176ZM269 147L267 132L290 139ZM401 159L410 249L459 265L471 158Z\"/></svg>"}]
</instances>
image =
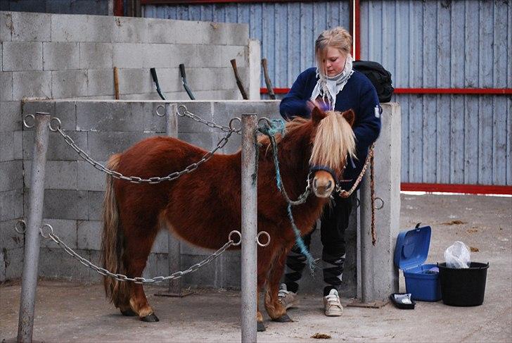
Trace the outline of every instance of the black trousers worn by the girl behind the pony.
<instances>
[{"instance_id":1,"label":"black trousers worn by the girl behind the pony","mask_svg":"<svg viewBox=\"0 0 512 343\"><path fill-rule=\"evenodd\" d=\"M327 204L324 208L320 225L324 282L326 283L324 296L329 294L331 289L340 290L345 266L345 230L352 212L352 197L340 198L338 194L333 197L334 200L331 201L331 204ZM316 230L316 225L314 230ZM308 249L313 231L302 237ZM297 292L299 289L297 281L302 277L302 270L305 266L306 256L300 253L300 249L296 245L293 246L286 258L284 275L284 282L289 291Z\"/></svg>"}]
</instances>

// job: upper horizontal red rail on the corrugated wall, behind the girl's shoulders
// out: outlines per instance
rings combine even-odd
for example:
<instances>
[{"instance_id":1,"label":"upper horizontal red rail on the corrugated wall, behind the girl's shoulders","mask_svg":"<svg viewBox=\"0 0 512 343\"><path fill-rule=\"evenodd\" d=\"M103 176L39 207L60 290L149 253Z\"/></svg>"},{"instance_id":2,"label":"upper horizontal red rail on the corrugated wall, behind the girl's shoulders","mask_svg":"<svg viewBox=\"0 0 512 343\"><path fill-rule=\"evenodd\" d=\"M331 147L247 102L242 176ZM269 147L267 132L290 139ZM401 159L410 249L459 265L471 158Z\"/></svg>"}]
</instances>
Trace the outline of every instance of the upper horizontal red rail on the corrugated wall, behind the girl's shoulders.
<instances>
[{"instance_id":1,"label":"upper horizontal red rail on the corrugated wall, behind the girl's shoulders","mask_svg":"<svg viewBox=\"0 0 512 343\"><path fill-rule=\"evenodd\" d=\"M274 88L276 94L286 94L290 88ZM260 88L260 94L267 94L267 88ZM396 94L512 94L511 88L395 88Z\"/></svg>"}]
</instances>

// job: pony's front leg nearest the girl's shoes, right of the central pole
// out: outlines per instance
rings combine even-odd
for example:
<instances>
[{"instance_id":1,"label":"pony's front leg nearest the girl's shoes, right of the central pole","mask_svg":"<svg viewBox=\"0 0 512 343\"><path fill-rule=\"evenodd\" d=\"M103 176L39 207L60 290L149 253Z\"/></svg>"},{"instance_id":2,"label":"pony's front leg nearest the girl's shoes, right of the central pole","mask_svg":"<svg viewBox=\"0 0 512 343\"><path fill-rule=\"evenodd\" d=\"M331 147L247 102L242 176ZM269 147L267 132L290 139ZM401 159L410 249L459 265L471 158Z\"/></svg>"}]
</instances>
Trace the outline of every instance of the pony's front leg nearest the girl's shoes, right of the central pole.
<instances>
[{"instance_id":1,"label":"pony's front leg nearest the girl's shoes, right of the central pole","mask_svg":"<svg viewBox=\"0 0 512 343\"><path fill-rule=\"evenodd\" d=\"M286 308L281 305L277 296L279 292L279 281L283 276L286 263L286 250L279 249L271 263L269 277L267 280L267 292L265 292L265 309L272 320L280 323L291 322L293 320L286 314Z\"/></svg>"}]
</instances>

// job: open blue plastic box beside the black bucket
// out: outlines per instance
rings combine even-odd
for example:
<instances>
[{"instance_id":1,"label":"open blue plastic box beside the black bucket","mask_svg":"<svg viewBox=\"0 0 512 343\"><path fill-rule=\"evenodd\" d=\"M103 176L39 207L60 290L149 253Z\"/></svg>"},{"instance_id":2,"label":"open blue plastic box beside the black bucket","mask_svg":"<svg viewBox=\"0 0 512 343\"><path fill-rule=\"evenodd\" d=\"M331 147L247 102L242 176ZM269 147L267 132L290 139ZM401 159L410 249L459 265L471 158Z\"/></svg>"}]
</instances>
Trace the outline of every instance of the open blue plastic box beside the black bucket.
<instances>
[{"instance_id":1,"label":"open blue plastic box beside the black bucket","mask_svg":"<svg viewBox=\"0 0 512 343\"><path fill-rule=\"evenodd\" d=\"M438 301L441 299L439 270L436 264L423 264L430 247L430 226L402 231L397 237L395 265L404 270L405 288L414 300Z\"/></svg>"}]
</instances>

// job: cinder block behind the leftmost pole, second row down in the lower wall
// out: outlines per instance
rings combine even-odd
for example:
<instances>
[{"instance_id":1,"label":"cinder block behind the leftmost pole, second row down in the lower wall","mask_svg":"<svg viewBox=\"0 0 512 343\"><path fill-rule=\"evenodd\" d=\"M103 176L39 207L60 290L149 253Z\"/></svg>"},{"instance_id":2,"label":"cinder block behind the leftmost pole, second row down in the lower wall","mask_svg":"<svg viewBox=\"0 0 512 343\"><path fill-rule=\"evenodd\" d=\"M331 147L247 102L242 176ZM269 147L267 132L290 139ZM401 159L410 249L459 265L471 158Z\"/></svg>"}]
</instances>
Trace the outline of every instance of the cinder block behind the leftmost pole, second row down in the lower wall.
<instances>
[{"instance_id":1,"label":"cinder block behind the leftmost pole, second row down in the lower wall","mask_svg":"<svg viewBox=\"0 0 512 343\"><path fill-rule=\"evenodd\" d=\"M87 152L87 132L69 131L66 134L70 136L80 149ZM23 131L23 159L32 160L33 151L34 132ZM63 137L56 132L50 132L46 158L55 161L77 161L77 159L81 159L77 152L66 144Z\"/></svg>"}]
</instances>

